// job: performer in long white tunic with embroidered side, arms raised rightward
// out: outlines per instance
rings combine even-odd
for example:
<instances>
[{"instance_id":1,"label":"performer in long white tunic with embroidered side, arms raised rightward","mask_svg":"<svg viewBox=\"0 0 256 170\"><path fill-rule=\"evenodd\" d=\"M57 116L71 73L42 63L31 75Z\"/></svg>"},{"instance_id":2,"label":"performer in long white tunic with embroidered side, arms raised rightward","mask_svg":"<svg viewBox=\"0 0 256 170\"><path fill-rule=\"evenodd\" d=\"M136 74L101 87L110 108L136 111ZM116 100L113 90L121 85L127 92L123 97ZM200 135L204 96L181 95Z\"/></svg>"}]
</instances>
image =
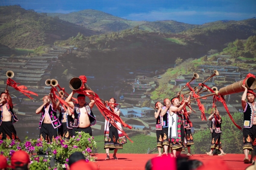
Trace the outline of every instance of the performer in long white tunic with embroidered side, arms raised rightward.
<instances>
[{"instance_id":1,"label":"performer in long white tunic with embroidered side, arms raised rightward","mask_svg":"<svg viewBox=\"0 0 256 170\"><path fill-rule=\"evenodd\" d=\"M187 100L190 99L190 95ZM171 99L172 105L169 108L169 130L168 136L172 144L173 156L176 158L180 156L181 151L186 147L186 134L184 131L184 118L182 114L182 109L187 100L183 101L180 105L180 99L174 97Z\"/></svg>"}]
</instances>

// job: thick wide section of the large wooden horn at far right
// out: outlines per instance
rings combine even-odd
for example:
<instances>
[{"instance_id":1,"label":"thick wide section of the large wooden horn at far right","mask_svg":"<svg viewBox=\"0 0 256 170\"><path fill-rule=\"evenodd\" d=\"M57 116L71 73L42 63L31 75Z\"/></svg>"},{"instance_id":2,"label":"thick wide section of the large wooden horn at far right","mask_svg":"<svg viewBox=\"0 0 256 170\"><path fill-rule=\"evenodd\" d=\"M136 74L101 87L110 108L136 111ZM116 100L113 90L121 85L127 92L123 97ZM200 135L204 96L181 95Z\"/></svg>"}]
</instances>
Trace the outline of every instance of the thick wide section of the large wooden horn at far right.
<instances>
[{"instance_id":1,"label":"thick wide section of the large wooden horn at far right","mask_svg":"<svg viewBox=\"0 0 256 170\"><path fill-rule=\"evenodd\" d=\"M242 87L244 80L241 80L239 82L235 82L231 85L227 85L226 87L220 88L219 94L222 96L227 94L233 94L233 93L239 93L244 91L244 88ZM249 77L245 79L244 85L247 89L255 90L256 88L256 79L253 77Z\"/></svg>"}]
</instances>

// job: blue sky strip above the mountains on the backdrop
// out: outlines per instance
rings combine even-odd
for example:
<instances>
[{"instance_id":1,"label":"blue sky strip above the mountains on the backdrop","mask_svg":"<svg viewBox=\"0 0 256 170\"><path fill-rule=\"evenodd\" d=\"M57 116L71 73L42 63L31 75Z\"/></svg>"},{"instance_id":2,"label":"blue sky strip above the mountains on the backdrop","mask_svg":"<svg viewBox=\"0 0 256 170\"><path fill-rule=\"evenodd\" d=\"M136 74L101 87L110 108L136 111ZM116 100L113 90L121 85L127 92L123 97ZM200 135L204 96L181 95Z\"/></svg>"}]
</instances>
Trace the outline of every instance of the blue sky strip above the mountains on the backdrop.
<instances>
[{"instance_id":1,"label":"blue sky strip above the mountains on the backdrop","mask_svg":"<svg viewBox=\"0 0 256 170\"><path fill-rule=\"evenodd\" d=\"M175 20L204 24L256 17L256 0L0 0L36 12L70 13L95 9L128 20Z\"/></svg>"}]
</instances>

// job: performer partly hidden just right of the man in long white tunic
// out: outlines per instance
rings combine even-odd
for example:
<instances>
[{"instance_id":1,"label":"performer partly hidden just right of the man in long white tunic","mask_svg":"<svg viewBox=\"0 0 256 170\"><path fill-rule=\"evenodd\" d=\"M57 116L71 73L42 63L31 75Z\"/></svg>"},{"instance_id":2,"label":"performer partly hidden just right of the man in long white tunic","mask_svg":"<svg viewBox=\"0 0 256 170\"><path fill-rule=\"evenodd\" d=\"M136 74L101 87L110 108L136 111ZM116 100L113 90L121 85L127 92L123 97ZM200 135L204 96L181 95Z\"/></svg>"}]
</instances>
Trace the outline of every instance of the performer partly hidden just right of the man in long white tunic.
<instances>
[{"instance_id":1,"label":"performer partly hidden just right of the man in long white tunic","mask_svg":"<svg viewBox=\"0 0 256 170\"><path fill-rule=\"evenodd\" d=\"M187 111L188 115L186 117L186 115L184 115L184 113L183 113L183 116L184 116L185 132L186 132L186 136L187 136L187 148L188 148L187 156L192 156L191 152L190 152L190 146L192 144L194 144L194 141L193 141L193 136L192 136L192 133L191 133L191 125L188 122L189 121L190 113L192 112L191 111L190 102L188 102L188 105L189 105L189 111Z\"/></svg>"}]
</instances>

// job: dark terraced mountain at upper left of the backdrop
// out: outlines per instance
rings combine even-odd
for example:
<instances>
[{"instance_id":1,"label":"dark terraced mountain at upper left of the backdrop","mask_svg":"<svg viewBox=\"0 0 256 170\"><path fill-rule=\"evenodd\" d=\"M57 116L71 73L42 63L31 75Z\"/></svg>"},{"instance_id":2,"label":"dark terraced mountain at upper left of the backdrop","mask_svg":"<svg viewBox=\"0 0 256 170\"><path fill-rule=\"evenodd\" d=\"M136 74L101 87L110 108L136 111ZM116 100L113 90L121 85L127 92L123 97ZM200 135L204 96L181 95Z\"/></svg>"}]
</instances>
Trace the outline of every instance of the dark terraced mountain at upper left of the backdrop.
<instances>
[{"instance_id":1,"label":"dark terraced mountain at upper left of the backdrop","mask_svg":"<svg viewBox=\"0 0 256 170\"><path fill-rule=\"evenodd\" d=\"M46 13L25 10L19 5L0 6L0 43L11 48L37 48L66 40L79 32L85 36L99 34L73 23L48 17Z\"/></svg>"}]
</instances>

